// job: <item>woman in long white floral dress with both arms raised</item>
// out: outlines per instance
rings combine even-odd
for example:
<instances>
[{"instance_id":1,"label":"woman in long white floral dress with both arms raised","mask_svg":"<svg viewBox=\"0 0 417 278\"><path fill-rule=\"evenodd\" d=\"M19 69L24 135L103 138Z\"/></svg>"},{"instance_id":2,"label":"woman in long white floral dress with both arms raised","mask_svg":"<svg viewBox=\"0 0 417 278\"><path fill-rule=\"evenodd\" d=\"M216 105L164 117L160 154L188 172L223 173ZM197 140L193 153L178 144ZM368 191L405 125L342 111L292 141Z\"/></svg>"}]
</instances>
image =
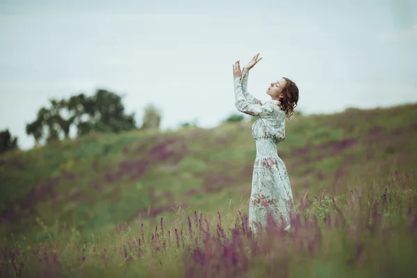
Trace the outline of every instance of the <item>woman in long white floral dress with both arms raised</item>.
<instances>
[{"instance_id":1,"label":"woman in long white floral dress with both arms raised","mask_svg":"<svg viewBox=\"0 0 417 278\"><path fill-rule=\"evenodd\" d=\"M249 204L249 224L254 233L259 224L265 227L267 213L277 224L288 230L289 218L294 211L293 193L284 162L277 153L277 143L285 139L286 117L290 118L298 102L297 85L283 77L270 83L266 93L271 99L260 101L247 92L249 70L262 58L254 58L240 70L240 61L234 64L235 106L238 111L257 117L252 125L256 140L256 158L252 174L252 192ZM281 221L284 220L284 223Z\"/></svg>"}]
</instances>

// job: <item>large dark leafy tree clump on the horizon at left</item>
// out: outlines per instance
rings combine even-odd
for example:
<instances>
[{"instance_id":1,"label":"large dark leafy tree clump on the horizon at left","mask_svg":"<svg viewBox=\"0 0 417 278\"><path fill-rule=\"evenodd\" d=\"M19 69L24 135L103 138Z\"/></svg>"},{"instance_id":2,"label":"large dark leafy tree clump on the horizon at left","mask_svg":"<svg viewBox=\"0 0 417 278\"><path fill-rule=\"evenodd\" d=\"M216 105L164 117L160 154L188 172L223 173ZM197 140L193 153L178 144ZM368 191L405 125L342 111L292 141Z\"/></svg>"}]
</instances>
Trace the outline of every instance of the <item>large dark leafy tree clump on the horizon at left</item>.
<instances>
[{"instance_id":1,"label":"large dark leafy tree clump on the horizon at left","mask_svg":"<svg viewBox=\"0 0 417 278\"><path fill-rule=\"evenodd\" d=\"M26 125L26 133L37 143L51 142L69 138L71 126L82 136L92 131L128 131L136 128L136 121L134 113L124 113L122 97L108 90L97 90L91 97L81 93L69 99L51 99L50 107L40 108L36 119Z\"/></svg>"}]
</instances>

